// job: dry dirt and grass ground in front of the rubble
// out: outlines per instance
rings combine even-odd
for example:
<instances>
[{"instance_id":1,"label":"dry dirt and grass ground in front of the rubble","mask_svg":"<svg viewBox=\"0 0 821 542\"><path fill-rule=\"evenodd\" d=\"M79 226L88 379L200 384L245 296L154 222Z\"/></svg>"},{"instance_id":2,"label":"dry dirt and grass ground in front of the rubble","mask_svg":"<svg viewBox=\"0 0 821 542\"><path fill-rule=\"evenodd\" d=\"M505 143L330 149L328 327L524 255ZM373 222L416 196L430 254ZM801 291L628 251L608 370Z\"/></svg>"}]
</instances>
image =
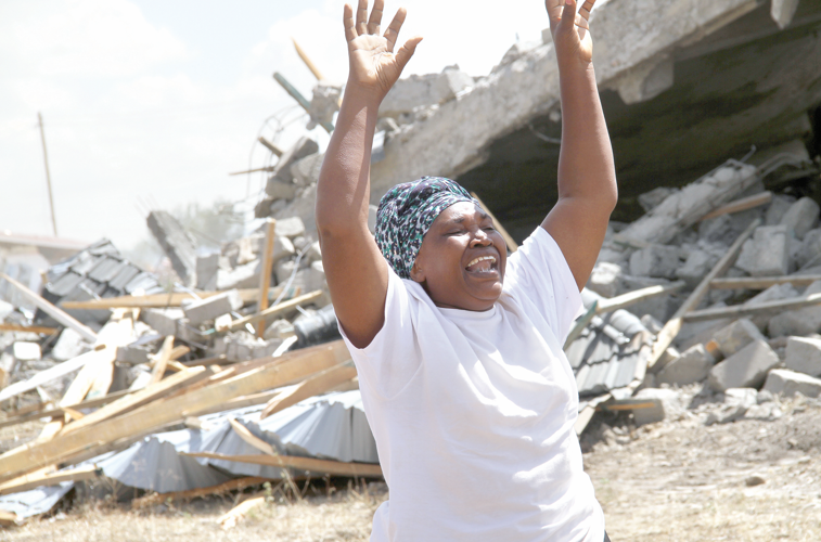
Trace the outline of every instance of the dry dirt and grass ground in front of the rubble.
<instances>
[{"instance_id":1,"label":"dry dirt and grass ground in front of the rubble","mask_svg":"<svg viewBox=\"0 0 821 542\"><path fill-rule=\"evenodd\" d=\"M627 416L595 422L583 441L585 462L611 539L821 541L821 406L799 399L782 410L773 422L709 427L693 415L638 429ZM218 518L260 489L139 512L127 503L77 499L0 530L0 540L364 541L387 498L384 483L336 490L320 481L299 502L268 491L266 504L223 529Z\"/></svg>"}]
</instances>

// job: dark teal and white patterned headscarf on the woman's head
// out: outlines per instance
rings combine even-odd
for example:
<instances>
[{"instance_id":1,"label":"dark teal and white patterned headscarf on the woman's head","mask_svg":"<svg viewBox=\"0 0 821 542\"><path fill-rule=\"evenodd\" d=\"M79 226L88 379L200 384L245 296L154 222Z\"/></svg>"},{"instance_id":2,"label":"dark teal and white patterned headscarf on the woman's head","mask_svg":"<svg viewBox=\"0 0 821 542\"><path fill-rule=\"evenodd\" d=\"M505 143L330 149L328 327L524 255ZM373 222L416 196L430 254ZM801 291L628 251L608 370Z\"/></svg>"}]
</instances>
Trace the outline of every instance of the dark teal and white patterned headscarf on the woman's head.
<instances>
[{"instance_id":1,"label":"dark teal and white patterned headscarf on the woman's head","mask_svg":"<svg viewBox=\"0 0 821 542\"><path fill-rule=\"evenodd\" d=\"M376 211L376 245L396 274L410 279L431 224L439 212L460 202L478 204L466 190L444 177L397 184L382 196Z\"/></svg>"}]
</instances>

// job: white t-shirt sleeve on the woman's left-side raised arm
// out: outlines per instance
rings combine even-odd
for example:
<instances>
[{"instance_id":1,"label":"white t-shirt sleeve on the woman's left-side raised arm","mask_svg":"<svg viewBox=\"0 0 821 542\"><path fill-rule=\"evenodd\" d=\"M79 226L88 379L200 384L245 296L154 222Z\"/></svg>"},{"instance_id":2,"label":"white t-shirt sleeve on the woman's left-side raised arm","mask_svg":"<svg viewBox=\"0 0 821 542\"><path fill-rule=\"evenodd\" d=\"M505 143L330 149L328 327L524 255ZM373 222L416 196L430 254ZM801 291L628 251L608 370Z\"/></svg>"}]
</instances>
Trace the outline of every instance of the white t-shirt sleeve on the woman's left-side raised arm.
<instances>
[{"instance_id":1,"label":"white t-shirt sleeve on the woman's left-side raised arm","mask_svg":"<svg viewBox=\"0 0 821 542\"><path fill-rule=\"evenodd\" d=\"M371 344L364 348L355 347L339 324L360 383L386 399L401 391L419 369L411 310L415 302L408 286L388 266L385 323Z\"/></svg>"}]
</instances>

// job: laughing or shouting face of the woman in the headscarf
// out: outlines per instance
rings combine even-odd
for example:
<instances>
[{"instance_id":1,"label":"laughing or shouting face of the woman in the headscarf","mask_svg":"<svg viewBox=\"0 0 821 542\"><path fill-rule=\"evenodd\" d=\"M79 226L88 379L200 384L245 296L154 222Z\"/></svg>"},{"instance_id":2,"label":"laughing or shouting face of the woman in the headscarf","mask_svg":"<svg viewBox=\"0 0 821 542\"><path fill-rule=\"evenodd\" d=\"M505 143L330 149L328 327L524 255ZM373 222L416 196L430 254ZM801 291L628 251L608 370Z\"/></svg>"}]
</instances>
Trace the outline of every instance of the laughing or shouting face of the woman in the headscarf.
<instances>
[{"instance_id":1,"label":"laughing or shouting face of the woman in the headscarf","mask_svg":"<svg viewBox=\"0 0 821 542\"><path fill-rule=\"evenodd\" d=\"M439 307L488 310L502 293L508 250L493 220L478 205L453 204L422 240L411 279Z\"/></svg>"}]
</instances>

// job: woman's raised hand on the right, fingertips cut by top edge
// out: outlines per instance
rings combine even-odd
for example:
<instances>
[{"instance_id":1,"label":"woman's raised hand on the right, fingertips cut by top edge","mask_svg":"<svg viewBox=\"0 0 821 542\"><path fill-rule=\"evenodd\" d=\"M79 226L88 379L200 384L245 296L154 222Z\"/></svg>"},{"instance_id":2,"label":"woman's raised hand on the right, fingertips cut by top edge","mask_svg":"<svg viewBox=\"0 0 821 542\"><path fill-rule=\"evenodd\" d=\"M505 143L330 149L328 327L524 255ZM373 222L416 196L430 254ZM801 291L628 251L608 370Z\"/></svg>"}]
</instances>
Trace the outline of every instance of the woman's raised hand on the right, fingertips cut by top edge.
<instances>
[{"instance_id":1,"label":"woman's raised hand on the right, fingertips cut by top edge","mask_svg":"<svg viewBox=\"0 0 821 542\"><path fill-rule=\"evenodd\" d=\"M576 0L544 0L560 66L578 62L587 67L593 61L588 20L594 3L595 0L586 0L577 14Z\"/></svg>"}]
</instances>

